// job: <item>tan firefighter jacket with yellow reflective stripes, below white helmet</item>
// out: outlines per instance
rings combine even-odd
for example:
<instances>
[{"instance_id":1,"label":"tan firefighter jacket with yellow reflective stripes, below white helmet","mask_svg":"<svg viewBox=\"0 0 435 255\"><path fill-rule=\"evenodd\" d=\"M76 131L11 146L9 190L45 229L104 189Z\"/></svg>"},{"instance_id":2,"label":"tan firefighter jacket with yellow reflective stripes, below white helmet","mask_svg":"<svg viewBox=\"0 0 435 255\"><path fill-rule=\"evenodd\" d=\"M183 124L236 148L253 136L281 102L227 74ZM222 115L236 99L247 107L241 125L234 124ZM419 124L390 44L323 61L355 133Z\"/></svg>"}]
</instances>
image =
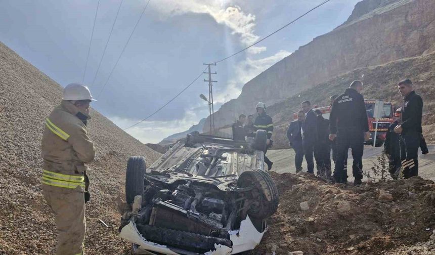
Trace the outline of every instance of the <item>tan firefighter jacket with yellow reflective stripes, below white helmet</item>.
<instances>
[{"instance_id":1,"label":"tan firefighter jacket with yellow reflective stripes, below white helmet","mask_svg":"<svg viewBox=\"0 0 435 255\"><path fill-rule=\"evenodd\" d=\"M77 187L84 191L84 163L91 162L95 156L94 144L83 122L89 118L68 101L62 101L50 113L41 143L43 185L56 192Z\"/></svg>"}]
</instances>

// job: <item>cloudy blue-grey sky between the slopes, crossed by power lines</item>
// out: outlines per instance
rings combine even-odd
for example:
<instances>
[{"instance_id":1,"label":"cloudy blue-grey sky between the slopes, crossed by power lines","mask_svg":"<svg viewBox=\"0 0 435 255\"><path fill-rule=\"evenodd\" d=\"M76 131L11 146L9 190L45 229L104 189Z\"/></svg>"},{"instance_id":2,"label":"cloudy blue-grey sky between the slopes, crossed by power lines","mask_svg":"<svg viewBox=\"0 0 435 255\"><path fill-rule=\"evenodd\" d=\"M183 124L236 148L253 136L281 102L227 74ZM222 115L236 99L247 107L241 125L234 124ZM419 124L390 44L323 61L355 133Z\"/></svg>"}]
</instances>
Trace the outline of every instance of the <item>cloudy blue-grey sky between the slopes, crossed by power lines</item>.
<instances>
[{"instance_id":1,"label":"cloudy blue-grey sky between the slopes, crossed by power lines","mask_svg":"<svg viewBox=\"0 0 435 255\"><path fill-rule=\"evenodd\" d=\"M179 93L202 72L202 63L254 43L322 0L150 0L108 79L147 2L100 0L98 9L84 82L99 100L93 107L120 128L143 119ZM237 98L245 82L343 23L357 2L332 0L213 67L218 72L213 75L218 80L213 88L215 109ZM82 81L97 3L1 0L0 40L62 86ZM199 98L208 91L204 78L205 74L158 114L127 132L144 143L157 143L206 117L207 103Z\"/></svg>"}]
</instances>

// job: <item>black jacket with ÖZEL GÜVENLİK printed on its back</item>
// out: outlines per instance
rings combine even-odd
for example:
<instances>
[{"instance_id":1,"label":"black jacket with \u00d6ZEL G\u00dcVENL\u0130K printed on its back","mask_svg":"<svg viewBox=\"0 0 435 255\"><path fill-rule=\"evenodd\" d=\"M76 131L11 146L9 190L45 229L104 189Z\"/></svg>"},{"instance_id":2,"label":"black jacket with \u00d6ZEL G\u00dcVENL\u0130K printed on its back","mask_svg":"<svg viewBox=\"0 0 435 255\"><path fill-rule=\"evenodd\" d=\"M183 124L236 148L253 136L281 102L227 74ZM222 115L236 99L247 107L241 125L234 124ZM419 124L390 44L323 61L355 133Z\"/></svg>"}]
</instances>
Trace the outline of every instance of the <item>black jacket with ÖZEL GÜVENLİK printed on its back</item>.
<instances>
[{"instance_id":1,"label":"black jacket with \u00d6ZEL G\u00dcVENL\u0130K printed on its back","mask_svg":"<svg viewBox=\"0 0 435 255\"><path fill-rule=\"evenodd\" d=\"M369 131L364 97L354 89L338 96L332 104L329 115L330 134L337 134L337 130Z\"/></svg>"}]
</instances>

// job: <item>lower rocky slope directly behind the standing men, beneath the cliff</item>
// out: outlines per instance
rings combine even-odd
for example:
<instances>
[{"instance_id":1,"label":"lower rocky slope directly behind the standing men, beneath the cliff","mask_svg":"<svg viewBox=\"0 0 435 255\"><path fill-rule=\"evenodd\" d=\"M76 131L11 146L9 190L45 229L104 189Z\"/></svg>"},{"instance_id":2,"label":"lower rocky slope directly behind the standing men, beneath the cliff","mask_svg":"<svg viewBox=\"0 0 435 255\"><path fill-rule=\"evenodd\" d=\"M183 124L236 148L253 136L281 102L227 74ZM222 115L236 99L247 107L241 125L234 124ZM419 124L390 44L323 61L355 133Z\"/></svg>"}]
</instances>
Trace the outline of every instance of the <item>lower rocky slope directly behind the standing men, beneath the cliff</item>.
<instances>
[{"instance_id":1,"label":"lower rocky slope directly behind the standing men, beneath the cliff","mask_svg":"<svg viewBox=\"0 0 435 255\"><path fill-rule=\"evenodd\" d=\"M268 108L274 120L274 148L288 148L285 135L293 113L300 109L300 102L310 100L318 106L328 105L329 97L342 93L352 80L362 79L365 88L363 95L366 99L384 99L395 104L400 104L402 97L397 90L397 82L405 78L414 81L415 89L424 100L423 134L429 142L435 142L433 124L435 118L435 53L421 57L405 58L384 65L356 69L352 72L318 84L303 91L300 97L293 96ZM363 77L364 75L364 77Z\"/></svg>"}]
</instances>

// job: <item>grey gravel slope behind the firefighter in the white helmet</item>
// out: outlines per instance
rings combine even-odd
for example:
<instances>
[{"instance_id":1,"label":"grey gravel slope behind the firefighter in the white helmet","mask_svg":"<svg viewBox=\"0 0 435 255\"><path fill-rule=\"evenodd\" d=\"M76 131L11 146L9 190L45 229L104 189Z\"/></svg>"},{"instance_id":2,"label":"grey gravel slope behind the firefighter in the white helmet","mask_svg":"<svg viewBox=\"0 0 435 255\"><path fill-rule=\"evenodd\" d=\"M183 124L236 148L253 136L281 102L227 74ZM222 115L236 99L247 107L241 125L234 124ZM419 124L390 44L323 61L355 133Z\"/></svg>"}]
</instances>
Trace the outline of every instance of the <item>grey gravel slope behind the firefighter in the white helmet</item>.
<instances>
[{"instance_id":1,"label":"grey gravel slope behind the firefighter in the white helmet","mask_svg":"<svg viewBox=\"0 0 435 255\"><path fill-rule=\"evenodd\" d=\"M0 43L0 254L54 254L53 214L40 193L40 141L44 120L61 97L59 84ZM93 109L91 116L97 156L89 171L86 253L121 254L117 201L123 198L126 161L142 155L150 164L160 154Z\"/></svg>"}]
</instances>

